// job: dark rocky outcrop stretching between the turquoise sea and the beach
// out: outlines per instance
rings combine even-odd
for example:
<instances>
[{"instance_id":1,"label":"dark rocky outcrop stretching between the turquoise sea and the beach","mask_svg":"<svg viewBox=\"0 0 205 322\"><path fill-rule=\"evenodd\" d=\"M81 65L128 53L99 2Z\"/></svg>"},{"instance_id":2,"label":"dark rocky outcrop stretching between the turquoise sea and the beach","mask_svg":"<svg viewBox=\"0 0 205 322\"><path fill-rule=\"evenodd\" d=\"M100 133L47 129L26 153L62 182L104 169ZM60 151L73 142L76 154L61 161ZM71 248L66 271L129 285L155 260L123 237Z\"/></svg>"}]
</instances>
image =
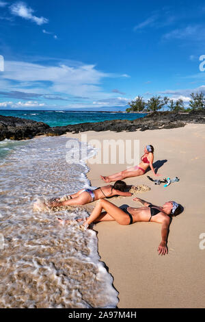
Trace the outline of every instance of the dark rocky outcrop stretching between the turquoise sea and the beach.
<instances>
[{"instance_id":1,"label":"dark rocky outcrop stretching between the turquoise sea and the beach","mask_svg":"<svg viewBox=\"0 0 205 322\"><path fill-rule=\"evenodd\" d=\"M0 116L0 140L10 138L22 140L46 134L59 136L66 132L79 133L85 131L135 132L146 129L173 129L183 127L187 123L205 123L205 111L192 112L155 112L135 120L109 120L98 123L79 123L74 125L49 127L49 125L20 119L13 116Z\"/></svg>"}]
</instances>

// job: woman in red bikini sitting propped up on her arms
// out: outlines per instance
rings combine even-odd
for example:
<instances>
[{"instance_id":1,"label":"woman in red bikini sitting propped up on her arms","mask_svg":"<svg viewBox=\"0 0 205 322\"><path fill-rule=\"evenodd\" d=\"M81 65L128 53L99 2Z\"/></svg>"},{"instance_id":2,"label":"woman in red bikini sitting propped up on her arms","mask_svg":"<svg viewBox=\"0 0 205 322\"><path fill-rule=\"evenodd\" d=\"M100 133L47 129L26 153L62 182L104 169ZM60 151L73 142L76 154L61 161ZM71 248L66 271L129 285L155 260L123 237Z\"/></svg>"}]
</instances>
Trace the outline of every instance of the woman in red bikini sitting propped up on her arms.
<instances>
[{"instance_id":1,"label":"woman in red bikini sitting propped up on her arms","mask_svg":"<svg viewBox=\"0 0 205 322\"><path fill-rule=\"evenodd\" d=\"M154 172L152 163L154 160L154 147L152 145L147 145L144 148L144 154L141 157L141 162L139 166L133 166L132 168L126 169L124 171L120 171L118 173L115 173L113 175L108 175L107 177L100 175L101 179L105 182L113 182L117 180L126 179L126 177L137 177L138 175L143 175L146 173L146 170L148 169L148 166L150 166L151 170L153 171L154 175L156 177L159 176L159 174L156 174Z\"/></svg>"}]
</instances>

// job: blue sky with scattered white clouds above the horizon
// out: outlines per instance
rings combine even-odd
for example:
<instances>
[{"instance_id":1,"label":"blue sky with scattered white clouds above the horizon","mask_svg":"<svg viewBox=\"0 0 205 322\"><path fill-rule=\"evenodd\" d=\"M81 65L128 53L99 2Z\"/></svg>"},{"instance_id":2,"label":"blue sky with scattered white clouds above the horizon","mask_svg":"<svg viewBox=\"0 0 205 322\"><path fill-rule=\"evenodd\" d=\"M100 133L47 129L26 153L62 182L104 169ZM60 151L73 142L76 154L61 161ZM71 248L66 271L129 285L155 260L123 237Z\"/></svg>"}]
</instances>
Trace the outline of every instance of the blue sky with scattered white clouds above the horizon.
<instances>
[{"instance_id":1,"label":"blue sky with scattered white clouds above the horizon","mask_svg":"<svg viewBox=\"0 0 205 322\"><path fill-rule=\"evenodd\" d=\"M187 103L205 93L204 35L204 1L0 0L0 109Z\"/></svg>"}]
</instances>

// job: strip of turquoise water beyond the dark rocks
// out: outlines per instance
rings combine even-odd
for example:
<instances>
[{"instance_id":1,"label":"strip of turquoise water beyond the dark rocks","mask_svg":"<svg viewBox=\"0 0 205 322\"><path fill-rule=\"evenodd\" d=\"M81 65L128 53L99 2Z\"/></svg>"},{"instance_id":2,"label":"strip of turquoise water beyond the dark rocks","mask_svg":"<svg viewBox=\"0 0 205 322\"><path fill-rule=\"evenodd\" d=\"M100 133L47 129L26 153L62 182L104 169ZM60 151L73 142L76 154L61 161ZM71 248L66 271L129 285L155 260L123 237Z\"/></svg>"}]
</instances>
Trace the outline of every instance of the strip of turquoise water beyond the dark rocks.
<instances>
[{"instance_id":1,"label":"strip of turquoise water beyond the dark rocks","mask_svg":"<svg viewBox=\"0 0 205 322\"><path fill-rule=\"evenodd\" d=\"M137 113L119 112L68 112L68 111L31 111L31 110L0 110L0 115L16 116L23 119L44 122L49 126L63 126L68 124L101 122L106 120L133 120L146 116Z\"/></svg>"}]
</instances>

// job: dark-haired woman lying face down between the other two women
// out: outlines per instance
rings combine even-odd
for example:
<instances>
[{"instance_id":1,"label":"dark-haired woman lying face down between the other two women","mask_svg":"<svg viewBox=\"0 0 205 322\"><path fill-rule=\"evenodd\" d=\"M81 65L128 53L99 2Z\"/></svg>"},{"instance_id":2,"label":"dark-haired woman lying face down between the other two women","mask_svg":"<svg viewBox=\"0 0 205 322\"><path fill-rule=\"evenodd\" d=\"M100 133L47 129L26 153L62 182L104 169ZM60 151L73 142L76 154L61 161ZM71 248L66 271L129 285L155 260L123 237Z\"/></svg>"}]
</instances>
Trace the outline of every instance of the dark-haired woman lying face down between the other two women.
<instances>
[{"instance_id":1,"label":"dark-haired woman lying face down between the other two women","mask_svg":"<svg viewBox=\"0 0 205 322\"><path fill-rule=\"evenodd\" d=\"M131 197L132 193L126 192L126 190L128 190L126 183L118 180L113 186L109 184L108 186L98 187L95 190L81 189L77 193L74 193L74 195L70 195L71 199L66 201L58 201L58 199L55 199L49 202L49 207L85 205L98 199L114 197L116 195Z\"/></svg>"}]
</instances>

